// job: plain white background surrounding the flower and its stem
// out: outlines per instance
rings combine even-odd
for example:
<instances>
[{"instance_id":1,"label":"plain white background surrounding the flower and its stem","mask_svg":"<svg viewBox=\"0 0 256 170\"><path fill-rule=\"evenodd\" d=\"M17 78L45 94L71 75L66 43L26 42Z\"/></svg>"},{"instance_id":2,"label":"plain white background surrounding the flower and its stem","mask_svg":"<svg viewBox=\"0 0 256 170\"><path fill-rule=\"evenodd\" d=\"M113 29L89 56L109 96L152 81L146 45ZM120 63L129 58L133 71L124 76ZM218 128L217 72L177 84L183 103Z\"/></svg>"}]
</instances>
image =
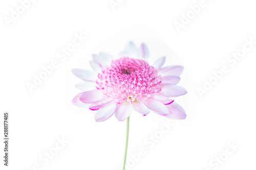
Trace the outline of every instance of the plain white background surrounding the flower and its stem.
<instances>
[{"instance_id":1,"label":"plain white background surrounding the flower and its stem","mask_svg":"<svg viewBox=\"0 0 256 170\"><path fill-rule=\"evenodd\" d=\"M256 41L255 3L205 0L178 32L175 21L181 22L189 6L198 3L124 0L113 10L108 0L37 0L8 27L4 18L11 17L20 2L1 1L1 119L5 111L10 113L9 166L3 165L1 142L1 169L31 170L36 164L49 170L121 169L126 123L115 116L95 123L93 111L74 106L71 100L80 92L74 84L80 80L71 69L91 69L92 54L117 56L130 40L147 44L149 62L166 56L166 66L184 66L178 85L188 91L175 99L187 118L172 120L174 127L152 149L144 140L155 135L166 118L132 113L127 160L139 148L146 154L130 169L211 170L216 166L209 163L225 156L229 142L239 148L215 169L255 169L256 44L234 66L227 62L246 38ZM58 51L72 43L75 34L87 39L61 61ZM30 92L26 83L33 83L34 75L53 60L58 67ZM229 71L200 98L197 88L222 65ZM39 157L62 137L69 142L45 165Z\"/></svg>"}]
</instances>

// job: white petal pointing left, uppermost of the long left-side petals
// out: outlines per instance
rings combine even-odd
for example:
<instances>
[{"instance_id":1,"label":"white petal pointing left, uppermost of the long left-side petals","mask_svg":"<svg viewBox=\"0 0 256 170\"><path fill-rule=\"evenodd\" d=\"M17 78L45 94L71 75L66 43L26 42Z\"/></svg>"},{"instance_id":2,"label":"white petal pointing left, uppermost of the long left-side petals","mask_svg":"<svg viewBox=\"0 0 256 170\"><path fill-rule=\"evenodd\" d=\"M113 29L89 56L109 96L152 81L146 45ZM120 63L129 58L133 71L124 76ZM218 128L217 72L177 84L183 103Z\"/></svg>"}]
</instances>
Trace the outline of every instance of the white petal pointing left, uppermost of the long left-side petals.
<instances>
[{"instance_id":1,"label":"white petal pointing left, uppermost of the long left-side petals","mask_svg":"<svg viewBox=\"0 0 256 170\"><path fill-rule=\"evenodd\" d=\"M98 74L95 71L90 71L81 68L75 68L71 71L76 77L84 81L96 81L98 78Z\"/></svg>"}]
</instances>

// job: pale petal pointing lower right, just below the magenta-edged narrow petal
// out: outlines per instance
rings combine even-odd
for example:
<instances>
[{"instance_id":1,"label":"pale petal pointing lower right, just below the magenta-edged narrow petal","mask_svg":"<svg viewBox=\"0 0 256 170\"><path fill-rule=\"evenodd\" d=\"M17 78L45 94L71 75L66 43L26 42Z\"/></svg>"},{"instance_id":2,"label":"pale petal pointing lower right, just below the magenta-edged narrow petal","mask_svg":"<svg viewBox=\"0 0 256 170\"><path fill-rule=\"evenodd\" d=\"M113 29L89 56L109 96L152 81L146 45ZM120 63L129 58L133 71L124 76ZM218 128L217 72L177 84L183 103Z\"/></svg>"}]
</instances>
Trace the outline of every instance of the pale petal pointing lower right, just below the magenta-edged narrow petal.
<instances>
[{"instance_id":1,"label":"pale petal pointing lower right, just below the magenta-edged narrow petal","mask_svg":"<svg viewBox=\"0 0 256 170\"><path fill-rule=\"evenodd\" d=\"M141 99L141 102L144 105L146 105L148 109L152 110L157 114L160 114L160 115L169 114L167 107L162 102L159 102L153 99L148 99L148 100Z\"/></svg>"}]
</instances>

